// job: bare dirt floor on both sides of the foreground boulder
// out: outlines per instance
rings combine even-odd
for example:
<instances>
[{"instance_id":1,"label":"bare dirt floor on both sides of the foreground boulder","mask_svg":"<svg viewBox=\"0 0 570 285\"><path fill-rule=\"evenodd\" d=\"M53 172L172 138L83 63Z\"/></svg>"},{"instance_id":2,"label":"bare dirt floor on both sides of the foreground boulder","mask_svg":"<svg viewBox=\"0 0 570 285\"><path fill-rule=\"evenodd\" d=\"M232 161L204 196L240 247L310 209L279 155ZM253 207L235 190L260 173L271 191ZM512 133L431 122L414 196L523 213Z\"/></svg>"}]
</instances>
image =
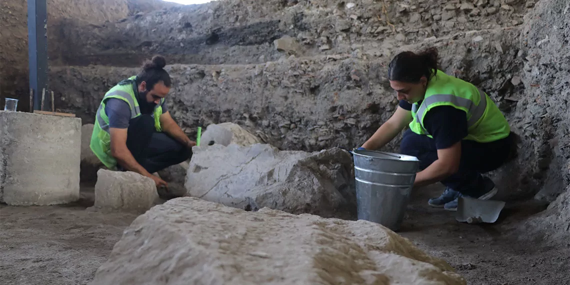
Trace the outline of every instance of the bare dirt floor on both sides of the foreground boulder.
<instances>
[{"instance_id":1,"label":"bare dirt floor on both sides of the foreground boulder","mask_svg":"<svg viewBox=\"0 0 570 285\"><path fill-rule=\"evenodd\" d=\"M519 242L503 230L544 205L507 204L496 225L467 225L449 211L427 206L438 191L414 194L400 234L447 260L468 284L570 284L570 245ZM2 284L88 284L137 216L87 210L91 205L92 187L83 187L82 200L72 205L2 205Z\"/></svg>"}]
</instances>

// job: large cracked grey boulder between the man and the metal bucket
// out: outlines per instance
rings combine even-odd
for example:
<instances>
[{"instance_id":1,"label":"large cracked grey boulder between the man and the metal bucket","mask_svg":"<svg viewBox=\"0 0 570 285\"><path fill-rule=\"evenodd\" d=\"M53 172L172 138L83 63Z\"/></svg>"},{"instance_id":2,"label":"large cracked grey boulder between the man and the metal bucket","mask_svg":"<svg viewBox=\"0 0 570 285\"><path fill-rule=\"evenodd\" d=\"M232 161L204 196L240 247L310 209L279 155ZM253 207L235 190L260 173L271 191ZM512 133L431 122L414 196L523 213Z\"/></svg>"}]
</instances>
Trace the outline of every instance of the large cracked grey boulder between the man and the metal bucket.
<instances>
[{"instance_id":1,"label":"large cracked grey boulder between the man and the metal bucket","mask_svg":"<svg viewBox=\"0 0 570 285\"><path fill-rule=\"evenodd\" d=\"M271 145L196 146L187 195L246 210L270 207L323 217L354 217L354 170L348 152L280 151Z\"/></svg>"}]
</instances>

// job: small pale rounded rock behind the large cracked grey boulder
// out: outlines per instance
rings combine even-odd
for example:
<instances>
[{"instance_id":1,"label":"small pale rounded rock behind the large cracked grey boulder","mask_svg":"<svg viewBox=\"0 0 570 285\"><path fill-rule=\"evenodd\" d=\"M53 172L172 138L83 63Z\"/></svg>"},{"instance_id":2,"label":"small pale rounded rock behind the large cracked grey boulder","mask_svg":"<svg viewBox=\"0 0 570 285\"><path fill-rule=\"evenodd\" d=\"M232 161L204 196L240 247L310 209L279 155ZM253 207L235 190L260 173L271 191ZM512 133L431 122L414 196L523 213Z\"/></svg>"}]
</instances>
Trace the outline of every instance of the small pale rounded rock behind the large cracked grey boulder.
<instances>
[{"instance_id":1,"label":"small pale rounded rock behind the large cracked grey boulder","mask_svg":"<svg viewBox=\"0 0 570 285\"><path fill-rule=\"evenodd\" d=\"M221 123L208 125L206 131L202 134L200 144L221 144L223 146L237 144L247 146L259 143L262 143L262 141L258 137L246 131L238 124Z\"/></svg>"}]
</instances>

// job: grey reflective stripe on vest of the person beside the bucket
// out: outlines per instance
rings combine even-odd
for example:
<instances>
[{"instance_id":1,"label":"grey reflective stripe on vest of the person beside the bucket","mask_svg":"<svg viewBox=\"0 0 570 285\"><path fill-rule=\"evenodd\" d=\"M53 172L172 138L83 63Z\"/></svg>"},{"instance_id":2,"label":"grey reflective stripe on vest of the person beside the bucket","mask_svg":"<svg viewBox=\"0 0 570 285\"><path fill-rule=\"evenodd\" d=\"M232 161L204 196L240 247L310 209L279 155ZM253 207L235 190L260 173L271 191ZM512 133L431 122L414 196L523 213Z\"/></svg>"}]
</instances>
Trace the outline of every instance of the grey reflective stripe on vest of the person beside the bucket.
<instances>
[{"instance_id":1,"label":"grey reflective stripe on vest of the person beside the bucket","mask_svg":"<svg viewBox=\"0 0 570 285\"><path fill-rule=\"evenodd\" d=\"M481 91L481 89L479 88L477 88L477 90L479 91L479 96L481 98L479 100L479 105L475 105L475 103L469 99L459 96L454 96L451 94L431 95L426 99L424 99L420 108L417 107L418 106L417 104L413 104L412 109L413 112L416 113L416 118L415 118L416 122L420 123L421 128L424 130L424 132L427 133L426 129L424 128L424 122L422 121L422 119L424 119L424 115L427 108L435 103L449 102L457 107L466 108L468 110L467 117L469 118L467 120L467 127L469 128L473 126L475 123L481 120L481 118L485 113L485 109L487 108L487 96L485 92Z\"/></svg>"}]
</instances>

